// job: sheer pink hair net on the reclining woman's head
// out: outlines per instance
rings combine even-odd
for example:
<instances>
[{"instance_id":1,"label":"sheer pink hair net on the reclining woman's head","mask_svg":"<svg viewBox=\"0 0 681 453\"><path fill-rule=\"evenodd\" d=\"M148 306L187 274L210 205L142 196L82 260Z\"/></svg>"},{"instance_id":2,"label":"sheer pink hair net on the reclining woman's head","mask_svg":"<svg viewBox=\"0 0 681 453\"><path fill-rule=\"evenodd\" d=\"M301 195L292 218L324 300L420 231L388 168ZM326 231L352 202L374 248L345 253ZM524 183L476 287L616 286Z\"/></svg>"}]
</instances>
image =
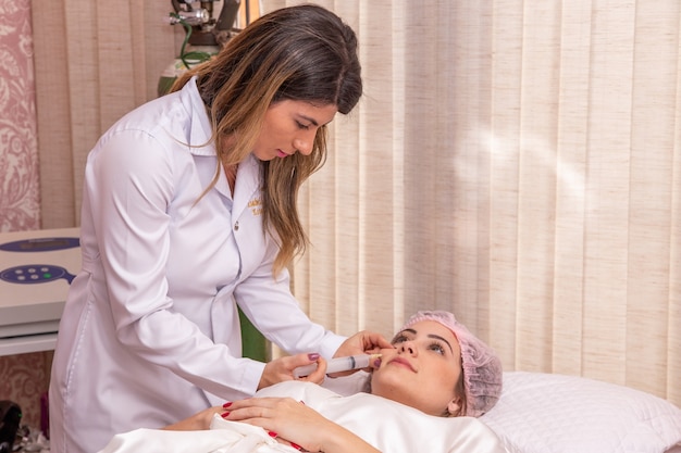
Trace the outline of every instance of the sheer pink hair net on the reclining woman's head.
<instances>
[{"instance_id":1,"label":"sheer pink hair net on the reclining woman's head","mask_svg":"<svg viewBox=\"0 0 681 453\"><path fill-rule=\"evenodd\" d=\"M445 311L420 311L403 327L422 320L434 320L454 332L461 348L466 414L479 417L490 411L502 394L502 361L482 340L475 337L454 315Z\"/></svg>"}]
</instances>

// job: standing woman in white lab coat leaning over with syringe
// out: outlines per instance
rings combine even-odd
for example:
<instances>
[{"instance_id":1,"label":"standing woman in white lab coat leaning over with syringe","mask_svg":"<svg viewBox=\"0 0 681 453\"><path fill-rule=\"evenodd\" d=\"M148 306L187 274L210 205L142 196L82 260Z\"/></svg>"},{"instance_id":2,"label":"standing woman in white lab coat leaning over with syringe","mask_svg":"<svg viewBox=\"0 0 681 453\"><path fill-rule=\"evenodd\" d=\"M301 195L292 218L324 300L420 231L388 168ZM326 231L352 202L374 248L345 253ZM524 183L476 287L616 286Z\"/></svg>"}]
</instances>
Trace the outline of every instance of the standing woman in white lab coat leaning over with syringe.
<instances>
[{"instance_id":1,"label":"standing woman in white lab coat leaning over with syringe","mask_svg":"<svg viewBox=\"0 0 681 453\"><path fill-rule=\"evenodd\" d=\"M252 395L319 355L389 347L311 323L286 270L307 241L298 188L361 95L356 48L320 7L275 11L97 142L50 382L53 453ZM293 355L242 358L237 304Z\"/></svg>"}]
</instances>

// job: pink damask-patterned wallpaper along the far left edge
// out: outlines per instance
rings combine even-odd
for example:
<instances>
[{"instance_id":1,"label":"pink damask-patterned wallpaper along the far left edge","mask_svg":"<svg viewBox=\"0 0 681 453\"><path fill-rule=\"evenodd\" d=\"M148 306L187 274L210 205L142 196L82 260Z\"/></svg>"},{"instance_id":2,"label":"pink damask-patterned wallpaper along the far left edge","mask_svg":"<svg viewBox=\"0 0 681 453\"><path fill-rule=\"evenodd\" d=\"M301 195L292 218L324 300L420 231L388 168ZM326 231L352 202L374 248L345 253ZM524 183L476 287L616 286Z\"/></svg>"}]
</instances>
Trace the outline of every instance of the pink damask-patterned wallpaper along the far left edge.
<instances>
[{"instance_id":1,"label":"pink damask-patterned wallpaper along the far left edge","mask_svg":"<svg viewBox=\"0 0 681 453\"><path fill-rule=\"evenodd\" d=\"M30 0L0 0L0 231L40 228ZM51 352L0 356L0 400L40 427Z\"/></svg>"}]
</instances>

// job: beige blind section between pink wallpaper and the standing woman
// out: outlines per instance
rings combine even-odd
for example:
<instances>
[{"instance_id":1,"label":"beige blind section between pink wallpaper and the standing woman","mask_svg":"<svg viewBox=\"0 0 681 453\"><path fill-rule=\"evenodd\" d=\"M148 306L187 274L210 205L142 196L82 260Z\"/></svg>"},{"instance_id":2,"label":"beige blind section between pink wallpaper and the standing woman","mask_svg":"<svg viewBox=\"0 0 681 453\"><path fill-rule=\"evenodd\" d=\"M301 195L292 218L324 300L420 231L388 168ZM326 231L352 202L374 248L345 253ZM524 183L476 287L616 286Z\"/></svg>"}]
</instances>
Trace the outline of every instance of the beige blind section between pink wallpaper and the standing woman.
<instances>
[{"instance_id":1,"label":"beige blind section between pink wallpaper and the standing woman","mask_svg":"<svg viewBox=\"0 0 681 453\"><path fill-rule=\"evenodd\" d=\"M152 99L175 56L170 1L34 1L42 227L77 225L87 152Z\"/></svg>"}]
</instances>

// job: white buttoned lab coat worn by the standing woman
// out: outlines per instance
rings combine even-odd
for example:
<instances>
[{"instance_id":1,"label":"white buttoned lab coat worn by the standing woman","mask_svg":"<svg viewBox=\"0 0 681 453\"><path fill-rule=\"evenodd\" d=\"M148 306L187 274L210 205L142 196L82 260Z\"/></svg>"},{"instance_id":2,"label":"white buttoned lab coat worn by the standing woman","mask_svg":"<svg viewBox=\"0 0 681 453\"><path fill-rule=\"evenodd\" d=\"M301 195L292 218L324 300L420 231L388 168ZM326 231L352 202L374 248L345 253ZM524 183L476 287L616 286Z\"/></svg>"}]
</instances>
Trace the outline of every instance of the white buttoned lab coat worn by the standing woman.
<instances>
[{"instance_id":1,"label":"white buttoned lab coat worn by the standing woman","mask_svg":"<svg viewBox=\"0 0 681 453\"><path fill-rule=\"evenodd\" d=\"M50 382L53 453L95 452L116 432L158 428L255 393L264 364L240 356L234 300L290 353L331 357L344 337L313 324L276 279L260 169L239 165L234 198L209 144L196 81L125 115L88 155L83 269ZM188 144L191 144L188 146Z\"/></svg>"}]
</instances>

